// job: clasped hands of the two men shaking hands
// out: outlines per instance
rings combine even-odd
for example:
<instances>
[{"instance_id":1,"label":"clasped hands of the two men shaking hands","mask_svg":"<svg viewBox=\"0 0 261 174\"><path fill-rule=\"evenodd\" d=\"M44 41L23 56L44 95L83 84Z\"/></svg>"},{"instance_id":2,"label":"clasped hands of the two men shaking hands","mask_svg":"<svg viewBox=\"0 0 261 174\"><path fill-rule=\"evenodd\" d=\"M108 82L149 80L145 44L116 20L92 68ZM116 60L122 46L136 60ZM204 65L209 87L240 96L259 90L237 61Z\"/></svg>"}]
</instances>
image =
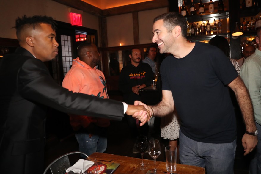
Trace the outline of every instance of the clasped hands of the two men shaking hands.
<instances>
[{"instance_id":1,"label":"clasped hands of the two men shaking hands","mask_svg":"<svg viewBox=\"0 0 261 174\"><path fill-rule=\"evenodd\" d=\"M132 115L133 118L138 119L141 122L140 126L144 125L152 117L151 109L141 101L135 101L134 105L128 104L125 114Z\"/></svg>"}]
</instances>

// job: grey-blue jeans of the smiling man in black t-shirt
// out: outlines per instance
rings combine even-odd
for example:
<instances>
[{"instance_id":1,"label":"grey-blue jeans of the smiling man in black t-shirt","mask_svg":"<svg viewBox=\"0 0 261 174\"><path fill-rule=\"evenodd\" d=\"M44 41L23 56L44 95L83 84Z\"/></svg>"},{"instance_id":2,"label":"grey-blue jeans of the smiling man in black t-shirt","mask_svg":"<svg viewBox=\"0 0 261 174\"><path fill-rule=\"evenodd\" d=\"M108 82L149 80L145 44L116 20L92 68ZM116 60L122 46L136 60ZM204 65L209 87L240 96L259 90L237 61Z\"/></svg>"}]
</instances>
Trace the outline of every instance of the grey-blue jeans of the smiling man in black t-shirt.
<instances>
[{"instance_id":1,"label":"grey-blue jeans of the smiling man in black t-shirt","mask_svg":"<svg viewBox=\"0 0 261 174\"><path fill-rule=\"evenodd\" d=\"M213 144L194 141L180 131L180 163L204 167L206 174L233 174L236 140Z\"/></svg>"}]
</instances>

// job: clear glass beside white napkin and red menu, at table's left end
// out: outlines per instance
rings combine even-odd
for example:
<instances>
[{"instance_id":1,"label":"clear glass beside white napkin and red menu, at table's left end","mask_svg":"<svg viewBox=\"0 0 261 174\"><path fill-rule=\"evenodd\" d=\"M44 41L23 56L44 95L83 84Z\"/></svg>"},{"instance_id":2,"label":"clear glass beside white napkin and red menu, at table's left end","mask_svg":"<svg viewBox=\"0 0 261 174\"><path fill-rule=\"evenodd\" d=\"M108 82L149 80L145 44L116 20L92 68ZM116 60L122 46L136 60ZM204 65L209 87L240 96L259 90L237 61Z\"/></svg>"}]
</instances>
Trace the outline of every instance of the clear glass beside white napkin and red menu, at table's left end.
<instances>
[{"instance_id":1,"label":"clear glass beside white napkin and red menu, at table's left end","mask_svg":"<svg viewBox=\"0 0 261 174\"><path fill-rule=\"evenodd\" d=\"M84 159L82 170L83 174L98 174L99 167L96 158L88 157L87 159Z\"/></svg>"}]
</instances>

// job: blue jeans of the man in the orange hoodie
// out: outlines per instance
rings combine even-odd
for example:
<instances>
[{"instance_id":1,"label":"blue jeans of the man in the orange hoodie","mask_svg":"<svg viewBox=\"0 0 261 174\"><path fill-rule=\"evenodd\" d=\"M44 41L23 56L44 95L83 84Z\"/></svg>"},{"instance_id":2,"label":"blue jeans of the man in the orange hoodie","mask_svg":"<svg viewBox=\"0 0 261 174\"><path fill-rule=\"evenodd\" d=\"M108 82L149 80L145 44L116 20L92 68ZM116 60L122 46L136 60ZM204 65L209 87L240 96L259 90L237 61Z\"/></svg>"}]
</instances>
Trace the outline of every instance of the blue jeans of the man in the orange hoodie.
<instances>
[{"instance_id":1,"label":"blue jeans of the man in the orange hoodie","mask_svg":"<svg viewBox=\"0 0 261 174\"><path fill-rule=\"evenodd\" d=\"M103 153L107 148L107 128L95 127L94 135L89 138L87 131L75 133L75 137L79 143L79 151L86 155L91 155L94 152Z\"/></svg>"}]
</instances>

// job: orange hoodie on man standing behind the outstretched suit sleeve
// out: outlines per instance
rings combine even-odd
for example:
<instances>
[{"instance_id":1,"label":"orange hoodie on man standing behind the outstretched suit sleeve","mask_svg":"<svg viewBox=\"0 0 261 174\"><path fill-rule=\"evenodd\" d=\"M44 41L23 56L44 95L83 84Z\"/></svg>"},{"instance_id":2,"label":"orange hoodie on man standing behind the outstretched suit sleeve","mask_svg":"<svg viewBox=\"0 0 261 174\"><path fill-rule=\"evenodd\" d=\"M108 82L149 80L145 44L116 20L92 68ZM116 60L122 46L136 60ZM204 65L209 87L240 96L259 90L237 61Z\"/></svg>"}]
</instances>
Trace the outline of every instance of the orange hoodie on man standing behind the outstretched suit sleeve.
<instances>
[{"instance_id":1,"label":"orange hoodie on man standing behind the outstretched suit sleeve","mask_svg":"<svg viewBox=\"0 0 261 174\"><path fill-rule=\"evenodd\" d=\"M96 67L91 68L78 57L73 59L72 68L65 75L62 86L75 93L109 98L103 73ZM91 122L101 127L107 127L110 124L108 119L70 114L70 124L74 131L81 127L86 128Z\"/></svg>"}]
</instances>

